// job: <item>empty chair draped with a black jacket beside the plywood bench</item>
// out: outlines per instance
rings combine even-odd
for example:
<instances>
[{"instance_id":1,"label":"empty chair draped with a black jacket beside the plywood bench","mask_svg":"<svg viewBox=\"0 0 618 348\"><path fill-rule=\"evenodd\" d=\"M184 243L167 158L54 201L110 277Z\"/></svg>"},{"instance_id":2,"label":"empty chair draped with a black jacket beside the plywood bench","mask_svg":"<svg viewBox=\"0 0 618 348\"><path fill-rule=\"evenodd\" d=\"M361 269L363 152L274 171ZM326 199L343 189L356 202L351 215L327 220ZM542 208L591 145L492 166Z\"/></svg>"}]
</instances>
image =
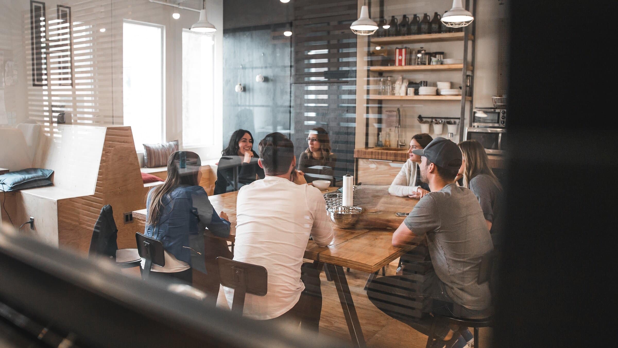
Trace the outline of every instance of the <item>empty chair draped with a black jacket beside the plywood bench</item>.
<instances>
[{"instance_id":1,"label":"empty chair draped with a black jacket beside the plywood bench","mask_svg":"<svg viewBox=\"0 0 618 348\"><path fill-rule=\"evenodd\" d=\"M92 231L88 256L103 255L116 261L120 268L133 268L140 266L142 259L137 249L118 249L116 243L118 229L114 221L112 206L106 204L101 208L99 218L96 220Z\"/></svg>"}]
</instances>

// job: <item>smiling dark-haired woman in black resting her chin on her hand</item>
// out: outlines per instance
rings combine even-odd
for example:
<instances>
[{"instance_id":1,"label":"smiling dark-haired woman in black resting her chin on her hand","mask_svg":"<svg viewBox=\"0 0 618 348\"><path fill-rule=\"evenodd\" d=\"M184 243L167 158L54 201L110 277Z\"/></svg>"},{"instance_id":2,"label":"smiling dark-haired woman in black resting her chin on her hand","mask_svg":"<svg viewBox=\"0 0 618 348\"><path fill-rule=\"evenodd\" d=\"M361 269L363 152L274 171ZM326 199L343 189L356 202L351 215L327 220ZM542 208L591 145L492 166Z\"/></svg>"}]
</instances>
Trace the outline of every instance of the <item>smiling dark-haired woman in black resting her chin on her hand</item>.
<instances>
[{"instance_id":1,"label":"smiling dark-haired woman in black resting her chin on her hand","mask_svg":"<svg viewBox=\"0 0 618 348\"><path fill-rule=\"evenodd\" d=\"M250 131L238 129L230 137L226 149L217 168L217 181L214 183L214 194L232 192L243 185L264 178L264 170L258 165L260 158L253 151L253 136ZM234 177L237 177L238 186L234 188Z\"/></svg>"}]
</instances>

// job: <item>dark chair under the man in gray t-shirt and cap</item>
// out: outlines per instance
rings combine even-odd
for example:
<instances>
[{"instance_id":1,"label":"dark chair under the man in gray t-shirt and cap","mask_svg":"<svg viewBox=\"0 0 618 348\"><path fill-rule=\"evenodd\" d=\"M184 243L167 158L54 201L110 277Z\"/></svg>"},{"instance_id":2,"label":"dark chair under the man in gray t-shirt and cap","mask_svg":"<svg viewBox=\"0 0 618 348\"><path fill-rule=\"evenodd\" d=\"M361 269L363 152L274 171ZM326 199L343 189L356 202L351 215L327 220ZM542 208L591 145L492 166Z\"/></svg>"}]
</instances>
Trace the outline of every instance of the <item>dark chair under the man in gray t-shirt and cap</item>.
<instances>
[{"instance_id":1,"label":"dark chair under the man in gray t-shirt and cap","mask_svg":"<svg viewBox=\"0 0 618 348\"><path fill-rule=\"evenodd\" d=\"M477 279L477 283L478 284L483 284L485 282L489 282L489 291L491 292L491 298L492 298L492 302L494 302L494 294L495 292L493 291L493 278L494 278L494 272L495 272L495 260L496 260L496 250L492 250L489 251L489 253L486 253L483 256L483 259L481 259L481 266L480 269L478 271L478 279ZM429 348L431 346L431 342L433 341L433 339L435 338L435 329L436 329L436 323L438 322L438 320L441 320L441 318L446 318L449 323L458 325L458 326L464 326L465 328L474 328L474 348L480 348L478 346L478 329L479 328L486 328L486 327L491 327L493 326L493 316L489 315L489 316L484 316L484 317L475 317L475 318L462 318L459 316L442 316L442 315L434 315L434 320L433 320L433 324L431 324L431 330L430 330L430 334L427 337L427 345L426 348Z\"/></svg>"}]
</instances>

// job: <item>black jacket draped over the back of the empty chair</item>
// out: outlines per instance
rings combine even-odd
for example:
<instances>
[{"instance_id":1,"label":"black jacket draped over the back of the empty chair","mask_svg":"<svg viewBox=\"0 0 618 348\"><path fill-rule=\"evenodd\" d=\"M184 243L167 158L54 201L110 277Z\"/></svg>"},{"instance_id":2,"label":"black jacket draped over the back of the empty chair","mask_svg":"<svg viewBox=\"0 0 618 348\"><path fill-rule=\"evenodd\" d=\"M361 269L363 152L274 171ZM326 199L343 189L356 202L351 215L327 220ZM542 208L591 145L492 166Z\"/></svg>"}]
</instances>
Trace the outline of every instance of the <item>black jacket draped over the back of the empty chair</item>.
<instances>
[{"instance_id":1,"label":"black jacket draped over the back of the empty chair","mask_svg":"<svg viewBox=\"0 0 618 348\"><path fill-rule=\"evenodd\" d=\"M116 259L118 245L118 228L114 221L114 211L109 204L101 208L99 218L96 219L95 228L92 231L88 256L105 255L111 259Z\"/></svg>"}]
</instances>

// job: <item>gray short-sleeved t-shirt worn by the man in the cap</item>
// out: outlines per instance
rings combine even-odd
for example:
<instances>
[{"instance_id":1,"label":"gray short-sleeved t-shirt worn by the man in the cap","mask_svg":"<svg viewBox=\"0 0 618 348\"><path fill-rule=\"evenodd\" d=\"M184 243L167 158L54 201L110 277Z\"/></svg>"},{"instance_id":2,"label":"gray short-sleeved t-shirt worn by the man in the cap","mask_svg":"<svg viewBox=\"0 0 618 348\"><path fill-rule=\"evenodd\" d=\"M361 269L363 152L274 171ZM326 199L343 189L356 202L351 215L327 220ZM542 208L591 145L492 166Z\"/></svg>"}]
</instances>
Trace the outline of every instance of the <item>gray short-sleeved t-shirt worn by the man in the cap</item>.
<instances>
[{"instance_id":1,"label":"gray short-sleeved t-shirt worn by the man in the cap","mask_svg":"<svg viewBox=\"0 0 618 348\"><path fill-rule=\"evenodd\" d=\"M431 264L455 303L470 310L489 307L489 286L476 281L481 258L493 243L472 191L448 184L428 193L404 224L418 237L427 237Z\"/></svg>"}]
</instances>

